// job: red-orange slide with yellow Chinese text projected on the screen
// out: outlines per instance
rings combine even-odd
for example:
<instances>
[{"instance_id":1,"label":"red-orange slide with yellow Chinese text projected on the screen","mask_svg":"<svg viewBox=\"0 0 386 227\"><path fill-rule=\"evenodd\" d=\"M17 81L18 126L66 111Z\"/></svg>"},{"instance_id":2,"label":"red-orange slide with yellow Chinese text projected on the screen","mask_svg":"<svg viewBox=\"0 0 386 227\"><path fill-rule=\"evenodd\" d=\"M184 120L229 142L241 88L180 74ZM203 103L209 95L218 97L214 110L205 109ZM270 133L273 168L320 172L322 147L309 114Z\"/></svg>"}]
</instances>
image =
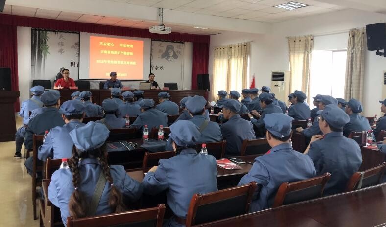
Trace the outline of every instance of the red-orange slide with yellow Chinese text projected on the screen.
<instances>
[{"instance_id":1,"label":"red-orange slide with yellow Chinese text projected on the screen","mask_svg":"<svg viewBox=\"0 0 386 227\"><path fill-rule=\"evenodd\" d=\"M90 36L90 79L142 80L144 41Z\"/></svg>"}]
</instances>

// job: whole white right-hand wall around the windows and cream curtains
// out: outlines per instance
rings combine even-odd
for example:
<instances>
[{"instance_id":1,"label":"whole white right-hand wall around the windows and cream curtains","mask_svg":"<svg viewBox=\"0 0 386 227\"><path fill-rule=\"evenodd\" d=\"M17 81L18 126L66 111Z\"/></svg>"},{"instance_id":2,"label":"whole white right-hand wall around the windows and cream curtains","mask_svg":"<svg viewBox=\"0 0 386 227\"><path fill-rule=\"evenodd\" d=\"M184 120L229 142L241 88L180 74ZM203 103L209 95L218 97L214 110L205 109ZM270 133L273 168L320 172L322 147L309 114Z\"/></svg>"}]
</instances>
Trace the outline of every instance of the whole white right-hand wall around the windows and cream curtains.
<instances>
[{"instance_id":1,"label":"whole white right-hand wall around the windows and cream curtains","mask_svg":"<svg viewBox=\"0 0 386 227\"><path fill-rule=\"evenodd\" d=\"M255 73L257 87L269 86L271 71L290 69L286 37L311 34L314 35L314 50L346 49L349 29L382 22L386 22L385 14L347 9L282 23L273 23L270 34L225 32L212 35L209 57L211 83L213 48L215 46L253 41L251 43L250 76ZM381 95L382 72L384 70L386 70L386 58L376 56L375 51L366 51L365 82L363 85L364 111L362 113L365 116L380 114L378 100L386 98Z\"/></svg>"}]
</instances>

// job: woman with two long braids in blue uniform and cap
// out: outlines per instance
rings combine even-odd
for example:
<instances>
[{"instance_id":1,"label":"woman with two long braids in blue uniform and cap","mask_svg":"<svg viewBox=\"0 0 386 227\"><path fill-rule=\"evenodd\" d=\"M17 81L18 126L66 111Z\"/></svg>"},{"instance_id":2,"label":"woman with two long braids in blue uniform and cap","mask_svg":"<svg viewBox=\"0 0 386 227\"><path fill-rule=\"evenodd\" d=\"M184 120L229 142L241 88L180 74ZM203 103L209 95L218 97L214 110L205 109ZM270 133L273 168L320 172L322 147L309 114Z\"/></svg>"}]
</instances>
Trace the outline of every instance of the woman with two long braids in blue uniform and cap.
<instances>
[{"instance_id":1,"label":"woman with two long braids in blue uniform and cap","mask_svg":"<svg viewBox=\"0 0 386 227\"><path fill-rule=\"evenodd\" d=\"M69 216L82 218L125 211L123 201L136 201L142 194L141 184L131 179L123 166L107 164L105 141L109 133L105 125L95 122L70 132L74 142L70 169L55 171L48 187L48 198L60 208L65 226ZM92 211L100 176L103 192Z\"/></svg>"}]
</instances>

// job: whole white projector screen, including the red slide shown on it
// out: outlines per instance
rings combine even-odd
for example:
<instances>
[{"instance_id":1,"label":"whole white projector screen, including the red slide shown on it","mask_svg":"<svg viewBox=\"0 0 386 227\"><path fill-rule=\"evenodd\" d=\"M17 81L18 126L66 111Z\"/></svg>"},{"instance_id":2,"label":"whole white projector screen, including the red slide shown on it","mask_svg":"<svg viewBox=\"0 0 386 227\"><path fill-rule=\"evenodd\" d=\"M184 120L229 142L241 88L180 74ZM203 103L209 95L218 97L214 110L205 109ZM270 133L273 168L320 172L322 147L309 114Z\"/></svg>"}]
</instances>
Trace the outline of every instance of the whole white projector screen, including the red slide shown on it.
<instances>
[{"instance_id":1,"label":"whole white projector screen, including the red slide shown on it","mask_svg":"<svg viewBox=\"0 0 386 227\"><path fill-rule=\"evenodd\" d=\"M146 38L80 33L79 79L148 80L151 40Z\"/></svg>"}]
</instances>

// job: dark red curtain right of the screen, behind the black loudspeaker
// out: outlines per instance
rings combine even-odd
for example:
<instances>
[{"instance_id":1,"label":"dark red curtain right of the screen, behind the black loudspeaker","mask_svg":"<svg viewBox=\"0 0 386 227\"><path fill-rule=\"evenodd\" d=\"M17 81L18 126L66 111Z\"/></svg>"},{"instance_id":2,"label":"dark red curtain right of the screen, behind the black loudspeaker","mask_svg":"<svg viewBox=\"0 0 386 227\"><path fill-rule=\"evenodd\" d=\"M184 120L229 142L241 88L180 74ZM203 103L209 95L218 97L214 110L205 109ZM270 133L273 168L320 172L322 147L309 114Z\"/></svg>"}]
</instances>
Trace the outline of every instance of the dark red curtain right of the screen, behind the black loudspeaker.
<instances>
[{"instance_id":1,"label":"dark red curtain right of the screen, behind the black loudspeaker","mask_svg":"<svg viewBox=\"0 0 386 227\"><path fill-rule=\"evenodd\" d=\"M197 74L208 74L209 43L193 43L192 89L197 89Z\"/></svg>"}]
</instances>

